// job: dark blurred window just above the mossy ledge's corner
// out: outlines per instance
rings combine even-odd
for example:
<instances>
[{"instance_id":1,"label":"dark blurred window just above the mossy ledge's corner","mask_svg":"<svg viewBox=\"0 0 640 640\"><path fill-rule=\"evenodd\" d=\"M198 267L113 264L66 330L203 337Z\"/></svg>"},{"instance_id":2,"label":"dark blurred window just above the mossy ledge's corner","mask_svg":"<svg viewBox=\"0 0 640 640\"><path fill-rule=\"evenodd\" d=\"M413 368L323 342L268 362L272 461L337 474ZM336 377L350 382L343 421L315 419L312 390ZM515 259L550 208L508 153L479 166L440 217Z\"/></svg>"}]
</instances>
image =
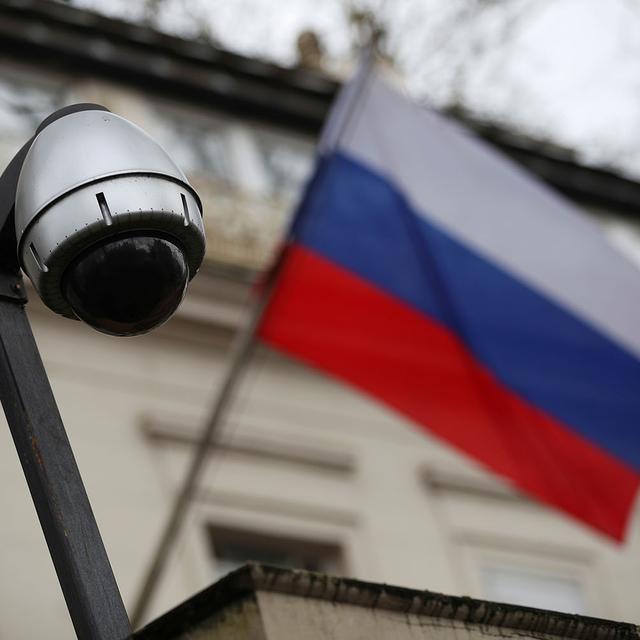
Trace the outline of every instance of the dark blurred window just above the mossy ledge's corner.
<instances>
[{"instance_id":1,"label":"dark blurred window just above the mossy ledge's corner","mask_svg":"<svg viewBox=\"0 0 640 640\"><path fill-rule=\"evenodd\" d=\"M216 578L249 561L322 573L342 572L342 553L333 544L219 527L209 529L209 540Z\"/></svg>"}]
</instances>

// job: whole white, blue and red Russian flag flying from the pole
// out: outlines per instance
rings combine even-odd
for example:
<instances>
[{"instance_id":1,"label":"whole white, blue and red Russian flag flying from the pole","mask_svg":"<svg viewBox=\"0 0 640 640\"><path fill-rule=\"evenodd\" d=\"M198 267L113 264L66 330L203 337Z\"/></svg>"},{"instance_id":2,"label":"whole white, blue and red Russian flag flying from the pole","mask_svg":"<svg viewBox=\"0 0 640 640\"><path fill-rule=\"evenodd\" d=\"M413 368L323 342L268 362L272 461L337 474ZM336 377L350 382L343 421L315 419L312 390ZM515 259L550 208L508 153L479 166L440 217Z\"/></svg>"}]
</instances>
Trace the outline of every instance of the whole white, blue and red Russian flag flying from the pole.
<instances>
[{"instance_id":1,"label":"whole white, blue and red Russian flag flying from the pole","mask_svg":"<svg viewBox=\"0 0 640 640\"><path fill-rule=\"evenodd\" d=\"M379 72L332 111L259 334L622 539L640 476L640 272Z\"/></svg>"}]
</instances>

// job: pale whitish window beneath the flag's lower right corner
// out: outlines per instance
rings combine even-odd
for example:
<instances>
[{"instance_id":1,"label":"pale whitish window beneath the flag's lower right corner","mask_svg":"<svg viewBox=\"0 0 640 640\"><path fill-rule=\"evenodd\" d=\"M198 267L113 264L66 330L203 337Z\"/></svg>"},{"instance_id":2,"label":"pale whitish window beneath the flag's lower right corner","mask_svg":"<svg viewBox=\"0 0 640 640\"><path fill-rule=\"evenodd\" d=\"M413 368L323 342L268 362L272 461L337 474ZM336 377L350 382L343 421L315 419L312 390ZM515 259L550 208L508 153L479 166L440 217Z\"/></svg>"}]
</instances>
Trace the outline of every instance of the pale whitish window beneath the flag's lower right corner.
<instances>
[{"instance_id":1,"label":"pale whitish window beneath the flag's lower right corner","mask_svg":"<svg viewBox=\"0 0 640 640\"><path fill-rule=\"evenodd\" d=\"M571 575L515 566L481 568L483 596L487 600L539 609L586 614L580 580Z\"/></svg>"}]
</instances>

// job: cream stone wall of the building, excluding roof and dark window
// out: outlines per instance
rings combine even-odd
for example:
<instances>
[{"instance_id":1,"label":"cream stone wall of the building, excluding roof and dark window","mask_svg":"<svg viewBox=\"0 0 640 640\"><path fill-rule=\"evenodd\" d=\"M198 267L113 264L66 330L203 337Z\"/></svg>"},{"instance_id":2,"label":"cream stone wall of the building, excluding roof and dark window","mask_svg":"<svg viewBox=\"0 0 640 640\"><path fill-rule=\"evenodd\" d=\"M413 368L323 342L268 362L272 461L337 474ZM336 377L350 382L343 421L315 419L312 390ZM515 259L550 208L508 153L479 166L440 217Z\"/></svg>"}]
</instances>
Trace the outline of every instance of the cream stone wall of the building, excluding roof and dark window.
<instances>
[{"instance_id":1,"label":"cream stone wall of the building, excluding roof and dark window","mask_svg":"<svg viewBox=\"0 0 640 640\"><path fill-rule=\"evenodd\" d=\"M141 94L69 81L67 96L103 102L151 132L160 130ZM230 126L242 138L255 125ZM251 153L252 140L245 136L243 153ZM227 256L236 266L267 260L290 202L262 193L256 175L251 184L224 186L216 178L205 185L209 233L220 234L210 238L218 247L213 257ZM246 213L234 231L225 231L230 219L216 210L216 193L235 217ZM233 204L234 193L244 206ZM135 339L99 335L55 317L31 297L34 332L131 606L179 486L189 440L210 408L231 335L246 317L248 288L204 268L178 317ZM0 638L69 638L65 605L2 423ZM151 617L214 579L207 539L213 524L337 545L344 572L366 580L478 597L491 597L489 588L511 580L534 599L555 589L555 601L575 597L582 613L640 622L638 514L628 541L616 546L293 360L257 350L224 443L212 452Z\"/></svg>"}]
</instances>

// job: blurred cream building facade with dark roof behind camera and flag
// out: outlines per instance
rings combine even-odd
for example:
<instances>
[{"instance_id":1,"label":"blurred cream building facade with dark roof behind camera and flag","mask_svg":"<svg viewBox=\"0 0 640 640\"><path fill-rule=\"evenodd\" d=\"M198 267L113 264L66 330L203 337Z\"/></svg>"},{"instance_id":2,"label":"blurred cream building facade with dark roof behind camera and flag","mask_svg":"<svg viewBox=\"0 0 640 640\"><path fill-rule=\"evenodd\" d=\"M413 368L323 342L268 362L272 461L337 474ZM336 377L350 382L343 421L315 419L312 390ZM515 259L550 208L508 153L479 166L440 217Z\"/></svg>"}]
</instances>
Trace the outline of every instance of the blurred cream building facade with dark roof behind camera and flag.
<instances>
[{"instance_id":1,"label":"blurred cream building facade with dark roof behind camera and flag","mask_svg":"<svg viewBox=\"0 0 640 640\"><path fill-rule=\"evenodd\" d=\"M177 316L115 339L28 307L131 607L252 286L313 166L337 85L42 0L0 2L0 161L57 107L97 102L158 139L203 198L205 266ZM481 129L640 260L640 184ZM640 276L640 273L639 273ZM0 429L0 638L70 637ZM150 617L247 559L640 622L640 513L615 545L359 392L259 345ZM34 615L37 612L37 615Z\"/></svg>"}]
</instances>

